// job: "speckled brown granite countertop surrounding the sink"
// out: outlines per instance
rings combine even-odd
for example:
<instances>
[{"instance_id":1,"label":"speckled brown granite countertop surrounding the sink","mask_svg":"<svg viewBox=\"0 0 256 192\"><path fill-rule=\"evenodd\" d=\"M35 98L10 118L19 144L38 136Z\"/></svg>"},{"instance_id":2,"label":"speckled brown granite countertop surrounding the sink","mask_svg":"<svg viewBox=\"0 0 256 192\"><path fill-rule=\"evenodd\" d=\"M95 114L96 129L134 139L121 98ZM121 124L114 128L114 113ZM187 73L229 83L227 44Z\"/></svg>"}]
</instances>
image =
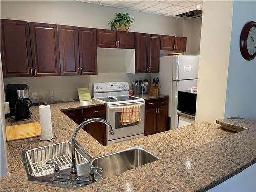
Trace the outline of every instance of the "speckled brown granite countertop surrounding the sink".
<instances>
[{"instance_id":1,"label":"speckled brown granite countertop surrounding the sink","mask_svg":"<svg viewBox=\"0 0 256 192\"><path fill-rule=\"evenodd\" d=\"M75 103L74 103L75 104ZM77 108L81 106L76 103ZM20 152L71 139L77 124L60 109L74 109L72 103L51 105L52 142L40 137L7 142L8 175L1 178L1 190L25 188L30 191L63 191L28 182ZM38 122L38 107L32 107L29 122ZM19 123L28 123L19 122ZM7 125L12 123L6 122ZM166 131L142 138L102 146L87 132L80 131L77 141L92 157L141 146L161 159L117 176L77 189L78 191L207 191L256 162L256 129L234 134L207 122ZM73 191L65 189L65 191Z\"/></svg>"}]
</instances>

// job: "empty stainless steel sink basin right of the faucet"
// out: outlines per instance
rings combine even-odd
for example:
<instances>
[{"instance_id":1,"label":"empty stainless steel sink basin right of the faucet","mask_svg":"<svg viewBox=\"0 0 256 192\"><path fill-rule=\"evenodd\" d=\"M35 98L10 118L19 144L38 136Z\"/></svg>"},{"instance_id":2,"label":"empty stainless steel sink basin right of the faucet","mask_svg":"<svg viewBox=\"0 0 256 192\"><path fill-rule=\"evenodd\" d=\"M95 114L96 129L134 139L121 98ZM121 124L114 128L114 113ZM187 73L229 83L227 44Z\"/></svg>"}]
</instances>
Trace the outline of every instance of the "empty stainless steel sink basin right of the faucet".
<instances>
[{"instance_id":1,"label":"empty stainless steel sink basin right of the faucet","mask_svg":"<svg viewBox=\"0 0 256 192\"><path fill-rule=\"evenodd\" d=\"M92 161L92 165L94 167L103 168L103 172L99 172L99 174L105 179L159 159L160 158L142 147L133 147L95 158Z\"/></svg>"}]
</instances>

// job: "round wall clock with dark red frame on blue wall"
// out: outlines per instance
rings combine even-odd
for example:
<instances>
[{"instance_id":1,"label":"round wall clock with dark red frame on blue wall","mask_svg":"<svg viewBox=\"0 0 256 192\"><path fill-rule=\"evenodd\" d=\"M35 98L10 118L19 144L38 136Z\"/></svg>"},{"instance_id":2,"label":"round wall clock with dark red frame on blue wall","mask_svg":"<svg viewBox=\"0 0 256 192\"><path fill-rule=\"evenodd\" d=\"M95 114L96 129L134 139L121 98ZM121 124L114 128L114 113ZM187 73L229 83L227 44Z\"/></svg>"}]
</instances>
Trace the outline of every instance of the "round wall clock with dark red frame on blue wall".
<instances>
[{"instance_id":1,"label":"round wall clock with dark red frame on blue wall","mask_svg":"<svg viewBox=\"0 0 256 192\"><path fill-rule=\"evenodd\" d=\"M240 35L240 51L245 60L256 57L256 22L247 22Z\"/></svg>"}]
</instances>

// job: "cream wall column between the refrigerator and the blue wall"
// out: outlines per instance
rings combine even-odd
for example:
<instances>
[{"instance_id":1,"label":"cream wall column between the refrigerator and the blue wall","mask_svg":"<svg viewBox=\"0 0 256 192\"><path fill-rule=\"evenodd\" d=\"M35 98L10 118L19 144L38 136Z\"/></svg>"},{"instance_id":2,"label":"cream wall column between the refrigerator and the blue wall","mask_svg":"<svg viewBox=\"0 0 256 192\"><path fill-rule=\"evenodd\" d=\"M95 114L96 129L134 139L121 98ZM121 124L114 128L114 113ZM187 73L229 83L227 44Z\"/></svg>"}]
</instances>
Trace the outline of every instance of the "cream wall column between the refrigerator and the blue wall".
<instances>
[{"instance_id":1,"label":"cream wall column between the refrigerator and the blue wall","mask_svg":"<svg viewBox=\"0 0 256 192\"><path fill-rule=\"evenodd\" d=\"M215 11L218 10L218 14ZM233 1L204 1L196 121L224 118Z\"/></svg>"}]
</instances>

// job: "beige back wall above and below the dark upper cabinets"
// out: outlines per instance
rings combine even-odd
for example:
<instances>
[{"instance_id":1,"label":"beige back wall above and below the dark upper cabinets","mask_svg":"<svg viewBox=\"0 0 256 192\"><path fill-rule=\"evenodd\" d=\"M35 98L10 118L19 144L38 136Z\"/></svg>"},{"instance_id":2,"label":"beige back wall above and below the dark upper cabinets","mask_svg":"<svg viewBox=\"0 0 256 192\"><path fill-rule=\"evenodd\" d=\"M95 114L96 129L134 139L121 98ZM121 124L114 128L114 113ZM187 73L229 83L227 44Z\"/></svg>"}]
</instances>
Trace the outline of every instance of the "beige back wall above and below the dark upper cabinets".
<instances>
[{"instance_id":1,"label":"beige back wall above and below the dark upper cabinets","mask_svg":"<svg viewBox=\"0 0 256 192\"><path fill-rule=\"evenodd\" d=\"M184 18L173 18L138 11L111 8L79 1L1 1L1 18L32 22L109 29L108 22L116 12L134 17L130 31L165 35L183 35ZM4 83L26 83L30 93L54 90L55 100L78 98L77 87L91 89L95 82L131 81L150 78L148 74L126 74L126 52L98 49L98 75L5 78ZM54 82L54 83L53 83Z\"/></svg>"}]
</instances>

